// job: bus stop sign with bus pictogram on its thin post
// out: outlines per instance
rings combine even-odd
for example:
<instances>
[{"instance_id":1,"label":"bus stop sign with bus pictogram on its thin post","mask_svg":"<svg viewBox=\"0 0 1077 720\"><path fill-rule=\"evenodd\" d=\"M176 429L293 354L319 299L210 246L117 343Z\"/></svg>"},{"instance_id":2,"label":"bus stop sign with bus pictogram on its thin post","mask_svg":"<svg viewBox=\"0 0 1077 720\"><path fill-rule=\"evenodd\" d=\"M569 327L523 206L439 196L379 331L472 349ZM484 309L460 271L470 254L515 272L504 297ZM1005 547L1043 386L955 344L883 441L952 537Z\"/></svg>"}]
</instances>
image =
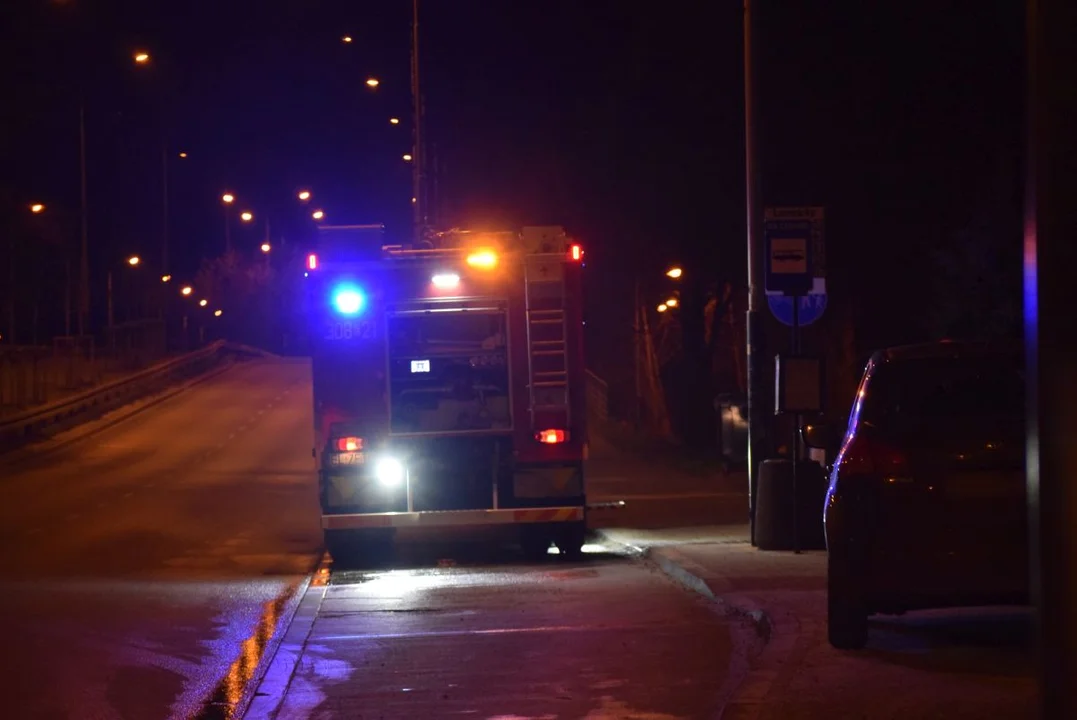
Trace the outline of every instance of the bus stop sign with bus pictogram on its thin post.
<instances>
[{"instance_id":1,"label":"bus stop sign with bus pictogram on its thin post","mask_svg":"<svg viewBox=\"0 0 1077 720\"><path fill-rule=\"evenodd\" d=\"M807 305L809 319L805 324L819 320L826 309L825 251L823 243L823 208L767 208L764 213L764 240L766 246L767 301L778 320L792 327L788 359L775 357L775 413L793 414L793 551L800 552L798 525L799 504L797 503L797 463L800 461L800 413L812 408L786 407L782 389L793 381L789 367L796 367L800 359L801 301L809 297L816 299ZM784 316L784 310L789 313ZM802 382L802 379L800 379ZM820 379L813 381L819 385ZM821 405L821 404L820 404ZM819 409L819 408L815 408ZM750 489L752 522L754 524L755 489Z\"/></svg>"}]
</instances>

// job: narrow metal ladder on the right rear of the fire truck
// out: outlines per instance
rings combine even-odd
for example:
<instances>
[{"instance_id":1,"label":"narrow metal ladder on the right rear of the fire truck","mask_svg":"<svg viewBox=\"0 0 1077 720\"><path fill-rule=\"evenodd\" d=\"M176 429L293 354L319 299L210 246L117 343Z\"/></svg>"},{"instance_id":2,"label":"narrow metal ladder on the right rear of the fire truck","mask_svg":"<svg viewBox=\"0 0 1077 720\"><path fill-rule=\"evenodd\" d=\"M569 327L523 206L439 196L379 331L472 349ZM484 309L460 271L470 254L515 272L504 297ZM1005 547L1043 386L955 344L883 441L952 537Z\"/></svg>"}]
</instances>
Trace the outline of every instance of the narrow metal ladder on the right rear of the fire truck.
<instances>
[{"instance_id":1,"label":"narrow metal ladder on the right rear of the fire truck","mask_svg":"<svg viewBox=\"0 0 1077 720\"><path fill-rule=\"evenodd\" d=\"M533 428L538 413L563 417L565 429L572 419L562 264L560 255L537 255L529 257L524 266L528 389Z\"/></svg>"}]
</instances>

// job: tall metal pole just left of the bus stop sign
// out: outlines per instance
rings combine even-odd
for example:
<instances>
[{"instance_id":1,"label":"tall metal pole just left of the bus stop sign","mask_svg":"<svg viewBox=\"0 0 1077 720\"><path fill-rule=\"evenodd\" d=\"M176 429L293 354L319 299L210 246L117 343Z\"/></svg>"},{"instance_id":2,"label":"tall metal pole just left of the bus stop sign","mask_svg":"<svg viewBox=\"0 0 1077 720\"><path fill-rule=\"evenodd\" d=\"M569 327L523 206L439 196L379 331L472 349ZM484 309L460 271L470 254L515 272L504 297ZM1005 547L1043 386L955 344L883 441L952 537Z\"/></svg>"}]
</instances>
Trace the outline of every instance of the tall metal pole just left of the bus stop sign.
<instances>
[{"instance_id":1,"label":"tall metal pole just left of the bus stop sign","mask_svg":"<svg viewBox=\"0 0 1077 720\"><path fill-rule=\"evenodd\" d=\"M744 0L744 180L747 225L747 423L749 521L755 545L755 500L759 466L767 454L767 355L764 337L764 272L759 173L755 137L752 0Z\"/></svg>"}]
</instances>

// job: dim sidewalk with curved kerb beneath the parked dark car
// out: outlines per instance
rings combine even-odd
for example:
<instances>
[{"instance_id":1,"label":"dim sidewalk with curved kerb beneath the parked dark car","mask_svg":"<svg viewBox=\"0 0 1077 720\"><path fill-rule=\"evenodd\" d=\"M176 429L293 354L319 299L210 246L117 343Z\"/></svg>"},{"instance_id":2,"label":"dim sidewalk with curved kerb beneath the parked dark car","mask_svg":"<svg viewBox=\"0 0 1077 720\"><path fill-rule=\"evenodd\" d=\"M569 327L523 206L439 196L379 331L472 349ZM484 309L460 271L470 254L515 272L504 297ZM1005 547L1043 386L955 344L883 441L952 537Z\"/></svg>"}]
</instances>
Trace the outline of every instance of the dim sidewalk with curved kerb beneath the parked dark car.
<instances>
[{"instance_id":1,"label":"dim sidewalk with curved kerb beneath the parked dark car","mask_svg":"<svg viewBox=\"0 0 1077 720\"><path fill-rule=\"evenodd\" d=\"M826 640L825 552L763 552L744 525L601 533L745 618L761 639L726 720L1035 717L1025 611L877 616L867 649L838 651Z\"/></svg>"}]
</instances>

